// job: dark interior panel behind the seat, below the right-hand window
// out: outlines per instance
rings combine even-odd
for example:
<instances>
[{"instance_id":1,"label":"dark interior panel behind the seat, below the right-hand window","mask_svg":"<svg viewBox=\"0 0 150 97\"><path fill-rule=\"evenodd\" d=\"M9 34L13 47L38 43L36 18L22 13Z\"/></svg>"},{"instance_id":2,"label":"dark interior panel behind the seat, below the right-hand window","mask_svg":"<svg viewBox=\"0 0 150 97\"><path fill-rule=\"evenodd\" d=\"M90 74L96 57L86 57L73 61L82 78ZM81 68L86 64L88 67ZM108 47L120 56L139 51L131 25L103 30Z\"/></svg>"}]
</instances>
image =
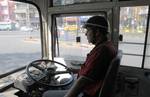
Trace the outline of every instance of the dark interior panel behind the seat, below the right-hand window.
<instances>
[{"instance_id":1,"label":"dark interior panel behind the seat, below the right-hand window","mask_svg":"<svg viewBox=\"0 0 150 97\"><path fill-rule=\"evenodd\" d=\"M115 97L150 97L150 70L121 66Z\"/></svg>"}]
</instances>

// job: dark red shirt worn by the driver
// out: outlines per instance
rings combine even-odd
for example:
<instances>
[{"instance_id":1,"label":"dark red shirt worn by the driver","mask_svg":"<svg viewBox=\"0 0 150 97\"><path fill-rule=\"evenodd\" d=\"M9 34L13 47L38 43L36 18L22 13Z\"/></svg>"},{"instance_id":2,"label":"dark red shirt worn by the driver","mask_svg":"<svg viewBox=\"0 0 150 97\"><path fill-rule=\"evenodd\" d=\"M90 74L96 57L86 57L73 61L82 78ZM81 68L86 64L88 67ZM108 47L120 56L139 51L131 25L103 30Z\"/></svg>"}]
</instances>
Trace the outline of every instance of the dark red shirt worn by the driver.
<instances>
[{"instance_id":1,"label":"dark red shirt worn by the driver","mask_svg":"<svg viewBox=\"0 0 150 97\"><path fill-rule=\"evenodd\" d=\"M96 95L106 71L112 59L116 56L116 50L110 41L97 44L87 55L85 63L81 66L78 77L86 76L95 82L85 87L84 92L91 97Z\"/></svg>"}]
</instances>

